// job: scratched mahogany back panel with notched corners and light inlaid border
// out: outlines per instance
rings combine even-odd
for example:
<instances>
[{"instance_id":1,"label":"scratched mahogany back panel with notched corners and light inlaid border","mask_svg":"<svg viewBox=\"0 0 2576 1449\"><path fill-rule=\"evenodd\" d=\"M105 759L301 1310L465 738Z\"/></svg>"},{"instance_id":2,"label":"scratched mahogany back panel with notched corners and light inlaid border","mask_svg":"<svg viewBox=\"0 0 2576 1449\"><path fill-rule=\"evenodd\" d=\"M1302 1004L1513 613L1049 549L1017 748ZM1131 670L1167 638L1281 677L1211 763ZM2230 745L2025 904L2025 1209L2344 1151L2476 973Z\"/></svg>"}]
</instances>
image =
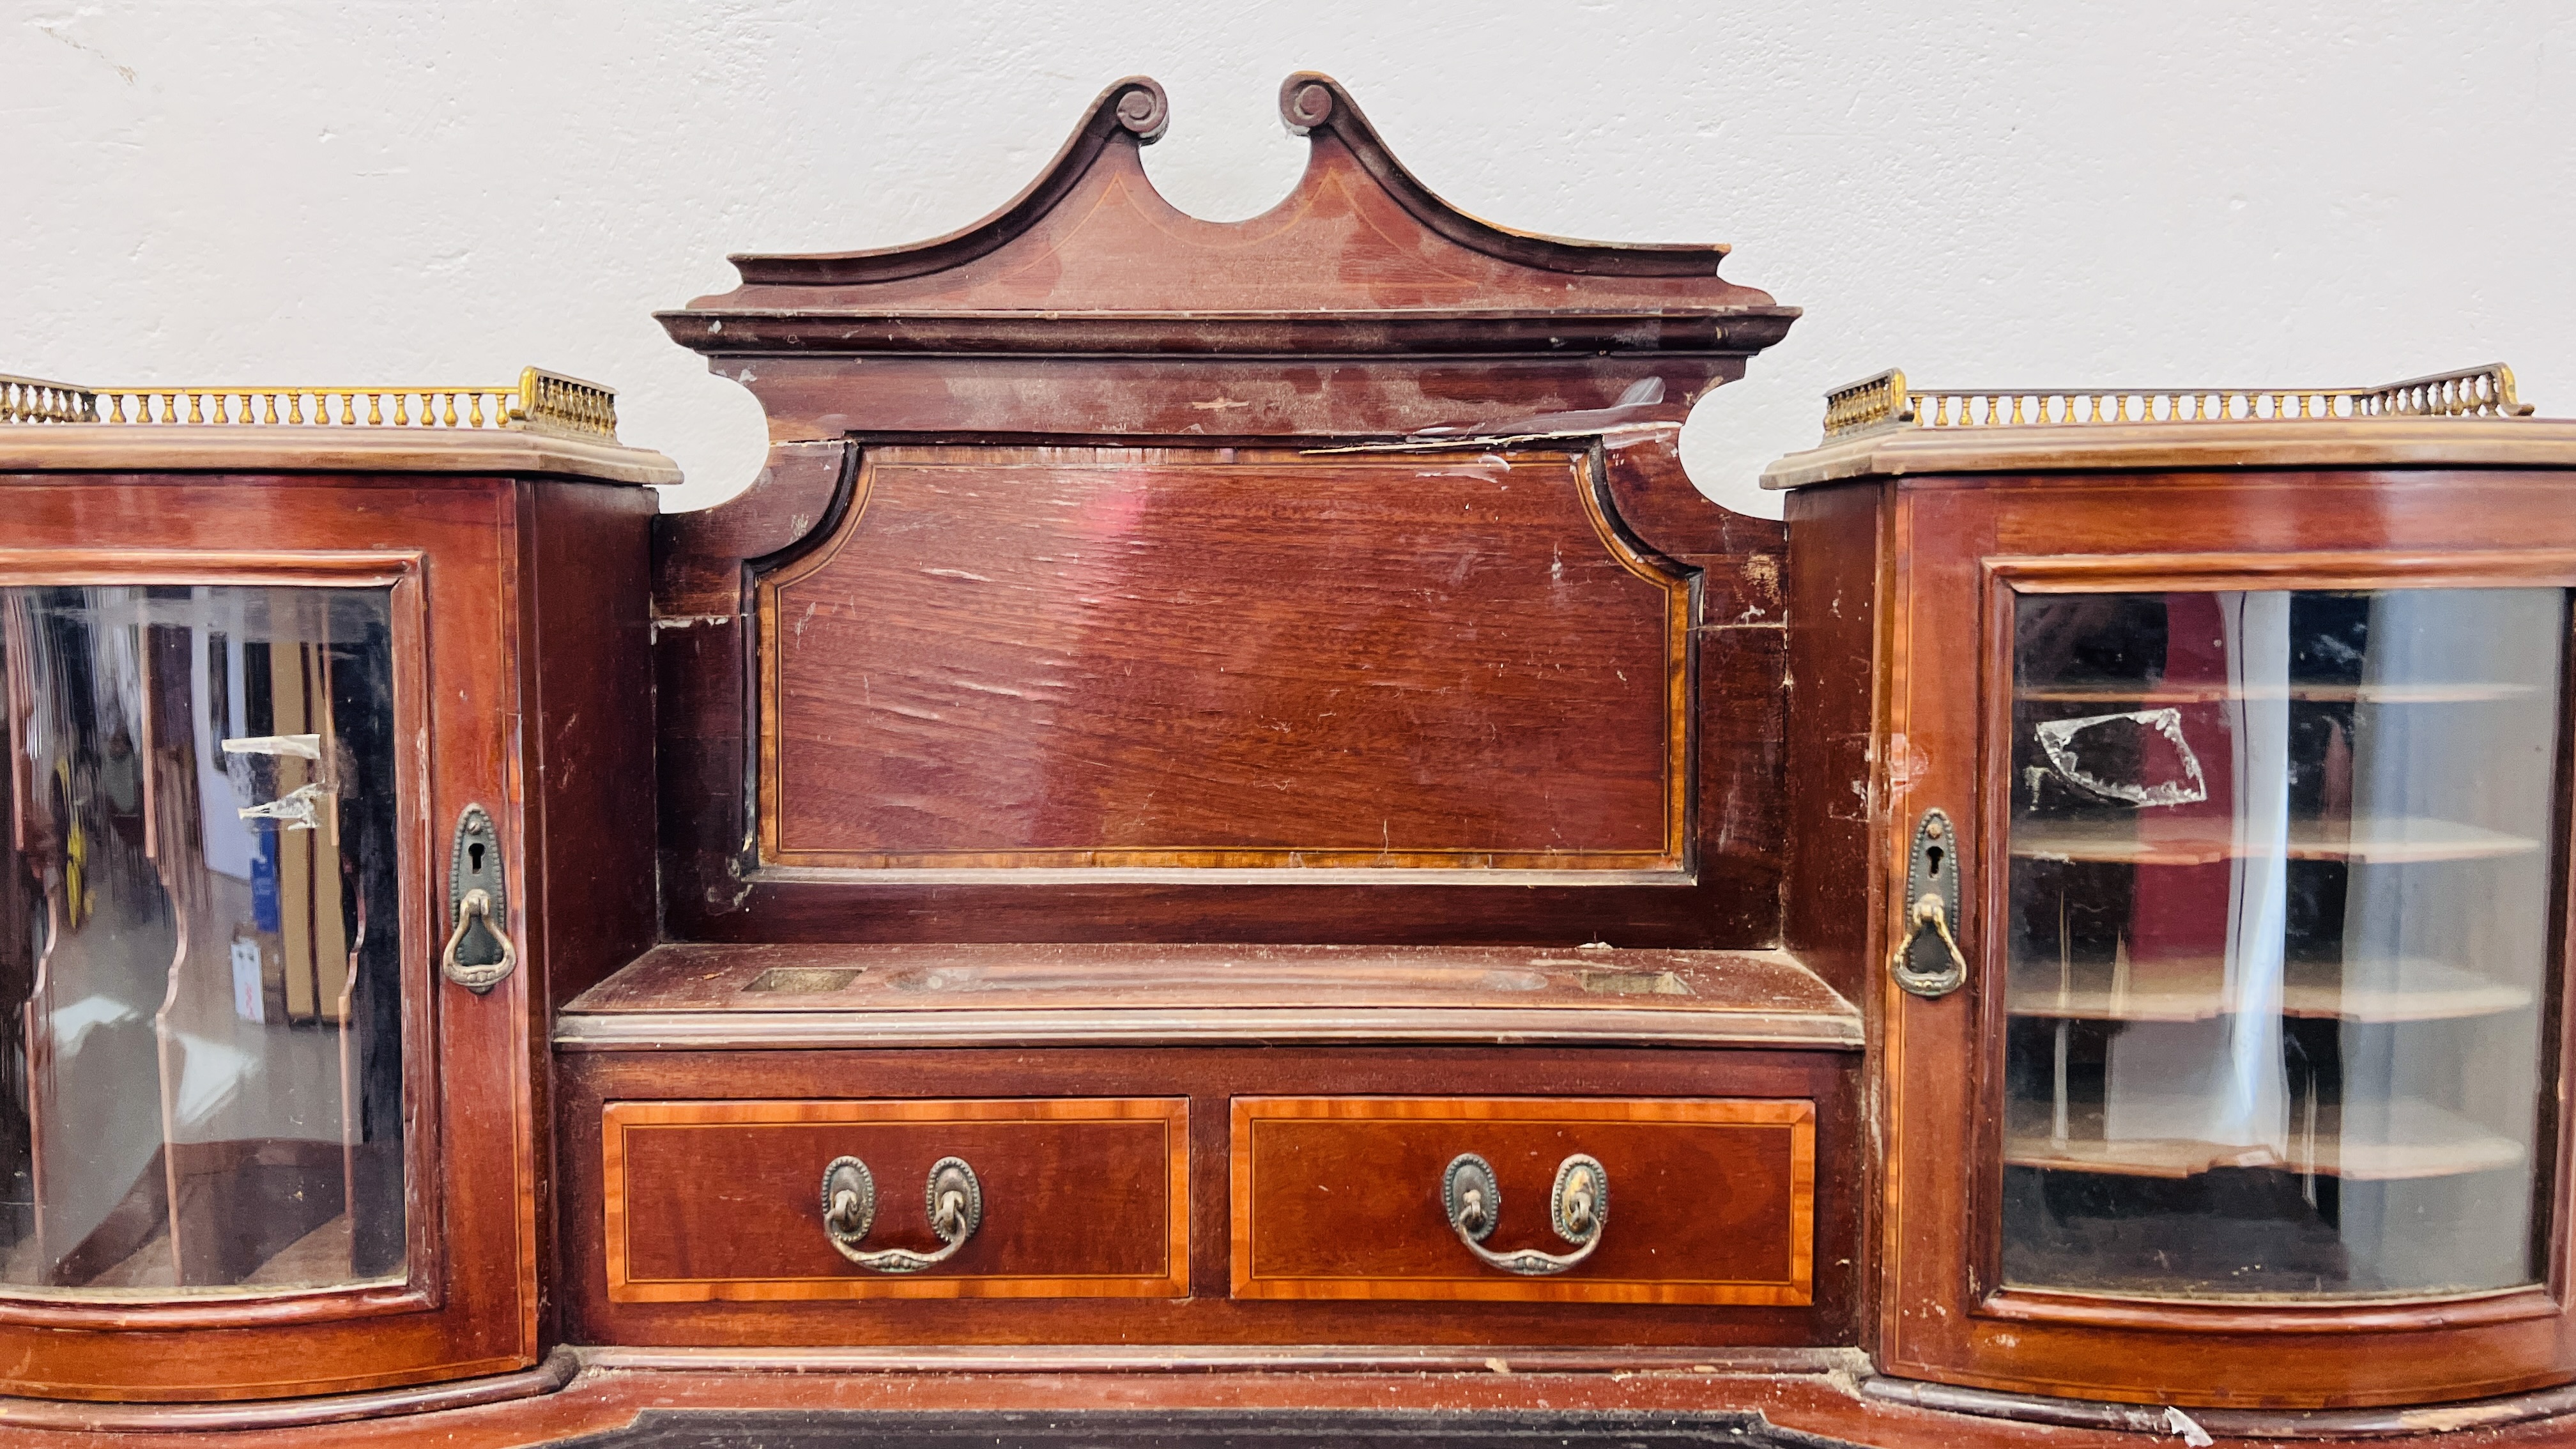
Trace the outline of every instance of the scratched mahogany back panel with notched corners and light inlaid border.
<instances>
[{"instance_id":1,"label":"scratched mahogany back panel with notched corners and light inlaid border","mask_svg":"<svg viewBox=\"0 0 2576 1449\"><path fill-rule=\"evenodd\" d=\"M762 864L1677 874L1690 588L1587 454L876 449L760 580Z\"/></svg>"}]
</instances>

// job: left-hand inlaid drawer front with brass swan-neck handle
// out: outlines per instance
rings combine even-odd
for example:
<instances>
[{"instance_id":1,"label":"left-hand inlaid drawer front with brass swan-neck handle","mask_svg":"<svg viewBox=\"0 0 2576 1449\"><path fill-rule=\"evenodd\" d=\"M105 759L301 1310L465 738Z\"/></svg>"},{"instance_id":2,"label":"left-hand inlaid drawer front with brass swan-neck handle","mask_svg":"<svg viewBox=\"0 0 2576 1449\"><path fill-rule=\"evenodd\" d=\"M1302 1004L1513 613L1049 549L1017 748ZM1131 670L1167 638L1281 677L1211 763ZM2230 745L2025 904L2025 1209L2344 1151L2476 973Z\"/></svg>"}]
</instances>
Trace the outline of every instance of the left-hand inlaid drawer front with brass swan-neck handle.
<instances>
[{"instance_id":1,"label":"left-hand inlaid drawer front with brass swan-neck handle","mask_svg":"<svg viewBox=\"0 0 2576 1449\"><path fill-rule=\"evenodd\" d=\"M938 1253L951 1158L974 1230L927 1266L853 1261L824 1232L842 1158L876 1204L850 1250ZM616 1101L603 1168L613 1302L1188 1294L1188 1098Z\"/></svg>"}]
</instances>

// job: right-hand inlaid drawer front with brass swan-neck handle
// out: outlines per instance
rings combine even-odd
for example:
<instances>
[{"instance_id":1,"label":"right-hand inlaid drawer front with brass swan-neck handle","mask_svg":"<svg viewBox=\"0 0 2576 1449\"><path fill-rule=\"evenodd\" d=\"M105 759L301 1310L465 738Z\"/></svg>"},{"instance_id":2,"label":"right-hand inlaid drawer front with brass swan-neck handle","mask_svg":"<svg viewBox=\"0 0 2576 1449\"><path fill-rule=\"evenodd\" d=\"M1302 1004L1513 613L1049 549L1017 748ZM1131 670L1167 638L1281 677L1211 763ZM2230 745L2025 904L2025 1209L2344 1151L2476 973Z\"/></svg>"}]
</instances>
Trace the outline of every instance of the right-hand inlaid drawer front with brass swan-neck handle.
<instances>
[{"instance_id":1,"label":"right-hand inlaid drawer front with brass swan-neck handle","mask_svg":"<svg viewBox=\"0 0 2576 1449\"><path fill-rule=\"evenodd\" d=\"M1255 1096L1231 1127L1234 1297L1814 1299L1808 1101ZM1461 1155L1499 1189L1481 1245L1522 1266L1579 1250L1551 1201L1584 1171L1566 1160L1592 1158L1607 1209L1589 1253L1556 1274L1481 1261L1448 1214Z\"/></svg>"}]
</instances>

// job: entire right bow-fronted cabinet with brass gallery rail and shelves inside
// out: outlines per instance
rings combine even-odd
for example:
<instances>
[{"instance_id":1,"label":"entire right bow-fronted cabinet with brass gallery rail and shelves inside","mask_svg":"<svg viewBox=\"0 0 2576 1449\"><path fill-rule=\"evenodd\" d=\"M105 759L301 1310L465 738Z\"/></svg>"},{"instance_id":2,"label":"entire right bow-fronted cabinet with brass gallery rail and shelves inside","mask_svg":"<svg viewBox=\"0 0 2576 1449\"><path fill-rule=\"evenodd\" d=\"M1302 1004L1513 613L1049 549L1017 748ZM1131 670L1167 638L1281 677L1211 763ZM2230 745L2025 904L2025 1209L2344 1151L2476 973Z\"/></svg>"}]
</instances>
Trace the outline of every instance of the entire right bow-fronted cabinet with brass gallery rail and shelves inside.
<instances>
[{"instance_id":1,"label":"entire right bow-fronted cabinet with brass gallery rail and shelves inside","mask_svg":"<svg viewBox=\"0 0 2576 1449\"><path fill-rule=\"evenodd\" d=\"M1888 374L1772 467L1826 822L1793 946L1875 980L1883 1372L2259 1408L2576 1377L2576 425L2524 413L2504 369Z\"/></svg>"}]
</instances>

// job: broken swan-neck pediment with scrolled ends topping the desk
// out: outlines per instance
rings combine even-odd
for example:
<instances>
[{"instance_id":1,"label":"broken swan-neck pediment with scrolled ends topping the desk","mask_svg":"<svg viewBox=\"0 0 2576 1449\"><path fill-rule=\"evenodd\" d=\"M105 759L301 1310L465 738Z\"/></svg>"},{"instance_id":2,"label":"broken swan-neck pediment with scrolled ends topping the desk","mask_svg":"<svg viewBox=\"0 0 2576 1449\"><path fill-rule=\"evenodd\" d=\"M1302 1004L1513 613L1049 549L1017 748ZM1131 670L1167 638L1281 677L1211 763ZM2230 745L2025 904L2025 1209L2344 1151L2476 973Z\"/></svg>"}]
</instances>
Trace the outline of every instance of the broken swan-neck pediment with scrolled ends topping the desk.
<instances>
[{"instance_id":1,"label":"broken swan-neck pediment with scrolled ends topping the desk","mask_svg":"<svg viewBox=\"0 0 2576 1449\"><path fill-rule=\"evenodd\" d=\"M1280 85L1298 186L1244 222L1154 191L1159 85L1128 77L992 217L907 248L737 255L742 286L659 320L708 356L1749 356L1795 307L1718 278L1723 245L1515 232L1422 186L1327 75Z\"/></svg>"}]
</instances>

